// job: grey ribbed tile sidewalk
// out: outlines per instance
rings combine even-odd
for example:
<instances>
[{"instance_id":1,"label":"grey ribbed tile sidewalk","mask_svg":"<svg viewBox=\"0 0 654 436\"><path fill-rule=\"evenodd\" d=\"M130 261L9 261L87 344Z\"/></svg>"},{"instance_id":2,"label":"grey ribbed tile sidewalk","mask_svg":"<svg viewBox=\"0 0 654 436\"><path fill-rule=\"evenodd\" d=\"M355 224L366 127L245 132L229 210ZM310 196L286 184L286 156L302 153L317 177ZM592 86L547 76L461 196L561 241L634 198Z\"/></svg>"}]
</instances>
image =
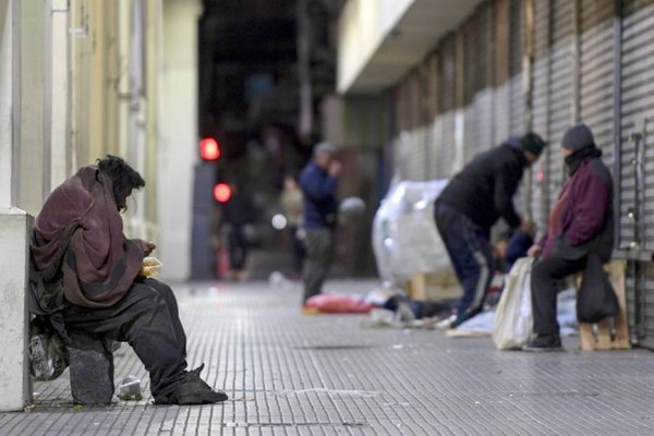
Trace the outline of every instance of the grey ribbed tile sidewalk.
<instances>
[{"instance_id":1,"label":"grey ribbed tile sidewalk","mask_svg":"<svg viewBox=\"0 0 654 436\"><path fill-rule=\"evenodd\" d=\"M365 292L373 281L331 281ZM0 414L0 435L647 435L654 353L496 351L488 338L370 329L359 315L300 314L299 286L174 288L189 363L230 400L155 407L152 399L75 408L68 372L35 385L27 413ZM116 382L147 375L129 346Z\"/></svg>"}]
</instances>

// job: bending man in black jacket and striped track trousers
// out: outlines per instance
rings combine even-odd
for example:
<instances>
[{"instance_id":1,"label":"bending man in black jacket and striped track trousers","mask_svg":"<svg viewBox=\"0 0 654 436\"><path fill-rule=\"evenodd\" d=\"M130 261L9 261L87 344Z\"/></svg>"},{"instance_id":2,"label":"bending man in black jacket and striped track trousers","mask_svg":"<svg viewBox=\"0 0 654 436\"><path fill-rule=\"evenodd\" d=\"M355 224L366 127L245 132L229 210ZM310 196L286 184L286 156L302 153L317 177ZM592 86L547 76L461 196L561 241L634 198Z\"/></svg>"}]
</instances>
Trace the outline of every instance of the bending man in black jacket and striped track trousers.
<instances>
[{"instance_id":1,"label":"bending man in black jacket and striped track trousers","mask_svg":"<svg viewBox=\"0 0 654 436\"><path fill-rule=\"evenodd\" d=\"M481 312L495 271L491 227L499 217L511 229L521 226L513 195L524 168L536 161L544 146L545 142L535 133L510 137L477 155L437 198L436 227L463 288L457 317L449 327L457 327Z\"/></svg>"}]
</instances>

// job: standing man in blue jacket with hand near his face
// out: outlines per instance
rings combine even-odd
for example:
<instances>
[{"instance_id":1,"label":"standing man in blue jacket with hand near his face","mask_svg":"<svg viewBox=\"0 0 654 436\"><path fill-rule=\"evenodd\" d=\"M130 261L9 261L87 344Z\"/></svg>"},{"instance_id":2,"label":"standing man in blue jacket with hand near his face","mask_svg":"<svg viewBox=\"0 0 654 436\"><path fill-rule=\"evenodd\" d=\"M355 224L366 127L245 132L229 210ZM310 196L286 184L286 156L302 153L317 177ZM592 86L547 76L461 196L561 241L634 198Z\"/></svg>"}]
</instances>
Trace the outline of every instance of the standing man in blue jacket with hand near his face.
<instances>
[{"instance_id":1,"label":"standing man in blue jacket with hand near his face","mask_svg":"<svg viewBox=\"0 0 654 436\"><path fill-rule=\"evenodd\" d=\"M320 293L334 259L337 201L335 196L342 166L329 143L315 146L312 161L300 174L304 216L304 302Z\"/></svg>"}]
</instances>

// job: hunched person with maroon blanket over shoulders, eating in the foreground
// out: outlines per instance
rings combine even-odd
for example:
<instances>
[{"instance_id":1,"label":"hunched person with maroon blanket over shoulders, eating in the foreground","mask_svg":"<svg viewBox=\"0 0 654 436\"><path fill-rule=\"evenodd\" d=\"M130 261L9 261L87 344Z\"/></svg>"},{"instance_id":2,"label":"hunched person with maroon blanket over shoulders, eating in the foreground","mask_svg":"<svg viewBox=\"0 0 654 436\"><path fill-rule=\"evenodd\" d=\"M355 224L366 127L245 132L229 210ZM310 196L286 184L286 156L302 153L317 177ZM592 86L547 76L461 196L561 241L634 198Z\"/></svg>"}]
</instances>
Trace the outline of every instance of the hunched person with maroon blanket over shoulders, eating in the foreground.
<instances>
[{"instance_id":1,"label":"hunched person with maroon blanket over shoulders, eating in the foreground","mask_svg":"<svg viewBox=\"0 0 654 436\"><path fill-rule=\"evenodd\" d=\"M167 284L140 275L155 244L123 234L121 211L143 178L107 156L64 181L46 199L31 242L31 310L66 329L128 342L150 376L158 404L225 401L186 371L186 336Z\"/></svg>"}]
</instances>

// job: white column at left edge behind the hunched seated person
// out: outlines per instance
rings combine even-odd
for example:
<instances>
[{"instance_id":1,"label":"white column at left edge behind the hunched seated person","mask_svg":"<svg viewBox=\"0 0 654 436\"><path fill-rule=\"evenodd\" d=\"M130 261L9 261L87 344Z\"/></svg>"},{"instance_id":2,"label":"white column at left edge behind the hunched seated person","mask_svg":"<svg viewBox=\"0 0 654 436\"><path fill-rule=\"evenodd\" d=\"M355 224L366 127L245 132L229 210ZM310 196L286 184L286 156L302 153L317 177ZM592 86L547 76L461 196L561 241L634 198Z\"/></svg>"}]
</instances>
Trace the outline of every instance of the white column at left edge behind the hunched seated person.
<instances>
[{"instance_id":1,"label":"white column at left edge behind the hunched seated person","mask_svg":"<svg viewBox=\"0 0 654 436\"><path fill-rule=\"evenodd\" d=\"M0 411L32 401L27 366L27 234L20 183L21 0L0 0Z\"/></svg>"}]
</instances>

